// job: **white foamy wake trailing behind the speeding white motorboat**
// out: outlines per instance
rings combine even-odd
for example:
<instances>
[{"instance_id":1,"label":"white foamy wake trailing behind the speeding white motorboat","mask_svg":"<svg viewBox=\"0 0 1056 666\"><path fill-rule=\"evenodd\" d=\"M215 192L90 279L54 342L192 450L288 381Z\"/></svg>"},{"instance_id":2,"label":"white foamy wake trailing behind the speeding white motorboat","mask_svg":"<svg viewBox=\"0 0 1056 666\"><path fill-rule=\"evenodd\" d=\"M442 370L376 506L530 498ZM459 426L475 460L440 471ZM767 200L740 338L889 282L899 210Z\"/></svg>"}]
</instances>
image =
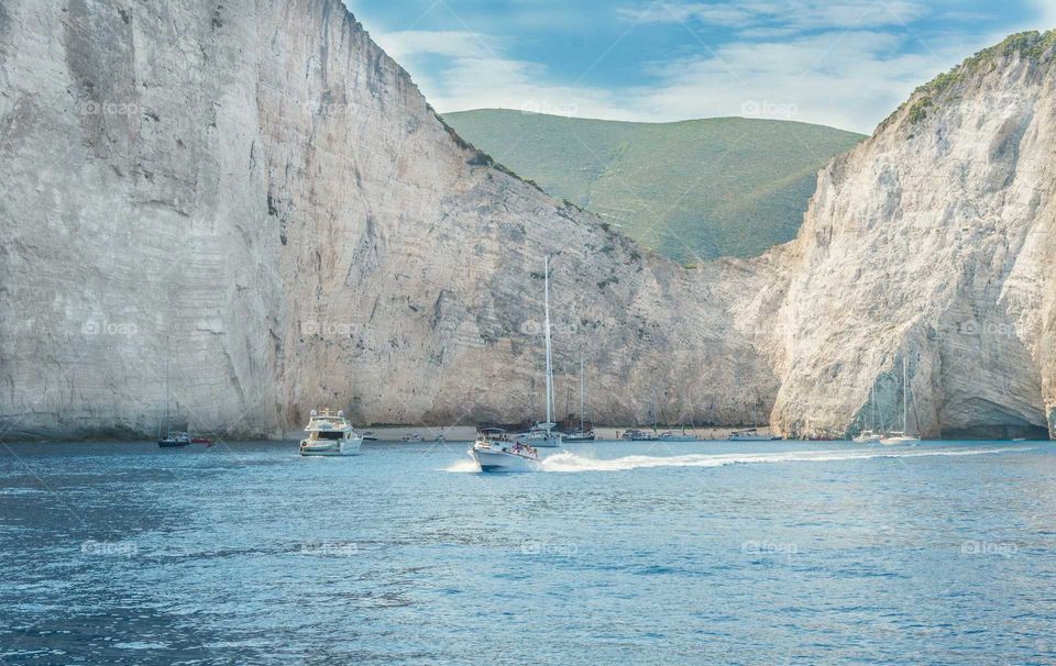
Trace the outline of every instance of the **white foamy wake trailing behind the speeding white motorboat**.
<instances>
[{"instance_id":1,"label":"white foamy wake trailing behind the speeding white motorboat","mask_svg":"<svg viewBox=\"0 0 1056 666\"><path fill-rule=\"evenodd\" d=\"M568 451L553 454L542 462L544 471L626 471L645 467L724 467L760 463L821 463L832 460L868 460L870 458L919 458L927 456L974 456L996 453L1033 451L1019 448L948 448L930 451L788 451L782 453L689 454L681 456L625 456L622 458L591 458Z\"/></svg>"}]
</instances>

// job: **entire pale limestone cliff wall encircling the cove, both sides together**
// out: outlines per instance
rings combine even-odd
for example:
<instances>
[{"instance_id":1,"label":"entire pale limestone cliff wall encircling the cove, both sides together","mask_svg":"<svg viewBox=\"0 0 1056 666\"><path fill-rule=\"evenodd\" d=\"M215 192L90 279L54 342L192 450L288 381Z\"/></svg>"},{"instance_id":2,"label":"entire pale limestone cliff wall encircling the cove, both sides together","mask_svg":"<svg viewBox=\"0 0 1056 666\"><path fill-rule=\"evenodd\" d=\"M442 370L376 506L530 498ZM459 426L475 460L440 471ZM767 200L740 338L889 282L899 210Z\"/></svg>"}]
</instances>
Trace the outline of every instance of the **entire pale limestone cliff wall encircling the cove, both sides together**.
<instances>
[{"instance_id":1,"label":"entire pale limestone cliff wall encircling the cove, both sides together","mask_svg":"<svg viewBox=\"0 0 1056 666\"><path fill-rule=\"evenodd\" d=\"M0 436L541 417L1044 432L1053 38L922 88L800 236L688 270L465 144L339 0L0 7ZM560 411L560 410L559 410Z\"/></svg>"}]
</instances>

